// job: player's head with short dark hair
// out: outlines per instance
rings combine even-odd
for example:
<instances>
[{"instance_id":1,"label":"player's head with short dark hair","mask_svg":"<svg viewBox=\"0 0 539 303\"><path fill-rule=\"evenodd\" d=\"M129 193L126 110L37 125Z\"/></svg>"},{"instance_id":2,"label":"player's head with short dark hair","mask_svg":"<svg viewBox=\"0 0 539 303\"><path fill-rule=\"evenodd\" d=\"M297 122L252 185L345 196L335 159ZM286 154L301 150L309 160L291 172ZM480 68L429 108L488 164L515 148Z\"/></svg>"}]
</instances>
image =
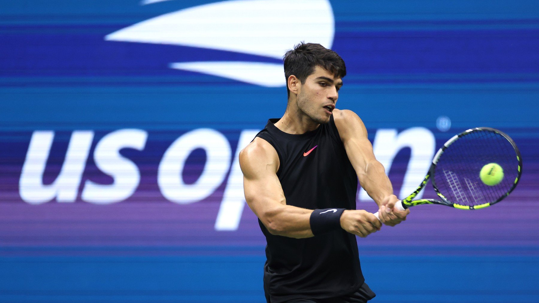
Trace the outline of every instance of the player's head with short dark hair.
<instances>
[{"instance_id":1,"label":"player's head with short dark hair","mask_svg":"<svg viewBox=\"0 0 539 303\"><path fill-rule=\"evenodd\" d=\"M300 43L285 54L288 107L315 123L328 123L346 75L342 58L320 44Z\"/></svg>"}]
</instances>

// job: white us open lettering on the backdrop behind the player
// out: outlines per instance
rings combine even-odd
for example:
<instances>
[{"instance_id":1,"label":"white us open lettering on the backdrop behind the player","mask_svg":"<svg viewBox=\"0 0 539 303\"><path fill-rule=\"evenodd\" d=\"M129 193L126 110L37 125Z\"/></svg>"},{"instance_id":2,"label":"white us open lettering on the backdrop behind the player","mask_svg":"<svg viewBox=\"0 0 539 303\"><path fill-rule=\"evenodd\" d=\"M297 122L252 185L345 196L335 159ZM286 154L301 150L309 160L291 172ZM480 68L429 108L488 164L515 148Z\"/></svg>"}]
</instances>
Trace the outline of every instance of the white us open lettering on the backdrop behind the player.
<instances>
[{"instance_id":1,"label":"white us open lettering on the backdrop behind the player","mask_svg":"<svg viewBox=\"0 0 539 303\"><path fill-rule=\"evenodd\" d=\"M251 142L258 131L241 131L235 153L232 153L231 142L223 133L214 129L195 129L179 136L159 160L156 177L163 197L180 205L196 203L211 195L226 180L215 229L237 230L245 208L239 151ZM53 200L60 203L75 202L80 189L82 201L108 205L126 201L136 191L141 180L140 168L122 156L120 150L144 150L147 131L120 129L108 133L98 142L94 142L93 131L73 131L58 177L51 184L45 184L43 175L55 136L54 131L34 131L32 134L19 180L19 194L23 201L32 205ZM92 154L93 143L95 150ZM400 150L411 150L400 196L413 191L417 187L418 178L423 178L434 156L435 143L434 135L425 128L410 128L402 132L396 129L376 131L374 153L384 165L386 173L389 173ZM203 149L208 159L198 180L194 184L186 184L182 180L181 171L189 154L196 149ZM100 171L113 178L112 184L98 184L89 180L82 182L89 157L93 158ZM419 199L421 195L419 193L416 198ZM363 189L358 191L357 199L370 201Z\"/></svg>"}]
</instances>

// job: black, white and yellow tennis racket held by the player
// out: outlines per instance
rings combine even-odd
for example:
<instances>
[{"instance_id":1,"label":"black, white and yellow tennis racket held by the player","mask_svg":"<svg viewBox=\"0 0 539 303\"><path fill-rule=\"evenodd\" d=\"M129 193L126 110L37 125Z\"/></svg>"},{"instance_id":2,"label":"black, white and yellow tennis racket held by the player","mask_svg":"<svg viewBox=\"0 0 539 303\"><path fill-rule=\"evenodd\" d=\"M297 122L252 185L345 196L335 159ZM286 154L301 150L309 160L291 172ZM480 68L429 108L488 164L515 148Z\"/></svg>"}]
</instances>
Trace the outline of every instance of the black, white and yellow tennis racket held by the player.
<instances>
[{"instance_id":1,"label":"black, white and yellow tennis racket held by the player","mask_svg":"<svg viewBox=\"0 0 539 303\"><path fill-rule=\"evenodd\" d=\"M496 163L503 179L496 185L483 183L481 168ZM506 133L493 128L473 128L455 135L442 146L432 160L429 172L416 191L397 201L404 210L421 204L439 204L458 209L481 209L505 199L519 183L522 158L515 142ZM439 197L413 200L429 179ZM374 214L378 220L378 212Z\"/></svg>"}]
</instances>

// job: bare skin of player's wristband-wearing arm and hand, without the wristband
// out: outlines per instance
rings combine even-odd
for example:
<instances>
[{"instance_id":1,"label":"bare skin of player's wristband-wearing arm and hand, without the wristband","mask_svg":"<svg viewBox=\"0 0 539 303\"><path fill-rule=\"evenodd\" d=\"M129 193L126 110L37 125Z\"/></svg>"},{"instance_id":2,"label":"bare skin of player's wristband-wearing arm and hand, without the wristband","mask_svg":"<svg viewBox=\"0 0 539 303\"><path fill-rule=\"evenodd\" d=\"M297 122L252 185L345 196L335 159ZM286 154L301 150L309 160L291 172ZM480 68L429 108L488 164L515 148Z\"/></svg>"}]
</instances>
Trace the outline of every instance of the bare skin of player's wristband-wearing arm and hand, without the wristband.
<instances>
[{"instance_id":1,"label":"bare skin of player's wristband-wearing arm and hand, without the wristband","mask_svg":"<svg viewBox=\"0 0 539 303\"><path fill-rule=\"evenodd\" d=\"M243 172L245 200L272 235L293 238L313 237L310 229L312 209L286 205L277 170L277 152L264 139L255 138L239 154ZM367 237L380 228L374 215L365 210L345 210L341 227L351 234Z\"/></svg>"}]
</instances>

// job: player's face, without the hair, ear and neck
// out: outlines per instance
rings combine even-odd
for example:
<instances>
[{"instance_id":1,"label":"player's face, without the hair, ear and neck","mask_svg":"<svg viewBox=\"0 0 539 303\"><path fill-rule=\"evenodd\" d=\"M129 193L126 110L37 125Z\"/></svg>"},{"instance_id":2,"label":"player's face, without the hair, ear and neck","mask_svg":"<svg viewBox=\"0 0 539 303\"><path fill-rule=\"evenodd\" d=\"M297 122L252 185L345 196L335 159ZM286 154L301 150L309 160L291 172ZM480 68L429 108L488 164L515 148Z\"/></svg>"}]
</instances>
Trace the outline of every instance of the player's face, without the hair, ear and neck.
<instances>
[{"instance_id":1,"label":"player's face, without the hair, ear and neck","mask_svg":"<svg viewBox=\"0 0 539 303\"><path fill-rule=\"evenodd\" d=\"M298 108L314 122L328 123L341 86L341 78L336 78L326 69L316 66L305 84L300 86Z\"/></svg>"}]
</instances>

